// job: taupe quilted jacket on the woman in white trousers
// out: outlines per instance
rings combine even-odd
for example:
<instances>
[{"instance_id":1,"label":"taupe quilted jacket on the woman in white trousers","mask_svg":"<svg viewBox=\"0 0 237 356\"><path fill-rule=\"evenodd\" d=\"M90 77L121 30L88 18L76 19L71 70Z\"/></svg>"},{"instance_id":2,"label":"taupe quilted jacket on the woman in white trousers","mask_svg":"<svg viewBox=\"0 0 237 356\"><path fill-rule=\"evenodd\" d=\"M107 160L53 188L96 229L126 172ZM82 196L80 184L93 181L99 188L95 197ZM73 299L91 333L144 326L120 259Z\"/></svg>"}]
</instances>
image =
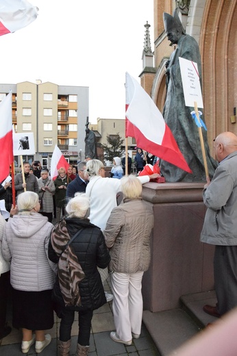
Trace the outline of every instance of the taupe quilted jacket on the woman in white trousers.
<instances>
[{"instance_id":1,"label":"taupe quilted jacket on the woman in white trousers","mask_svg":"<svg viewBox=\"0 0 237 356\"><path fill-rule=\"evenodd\" d=\"M110 249L110 271L135 273L148 270L151 261L152 206L142 199L125 199L112 210L103 235Z\"/></svg>"}]
</instances>

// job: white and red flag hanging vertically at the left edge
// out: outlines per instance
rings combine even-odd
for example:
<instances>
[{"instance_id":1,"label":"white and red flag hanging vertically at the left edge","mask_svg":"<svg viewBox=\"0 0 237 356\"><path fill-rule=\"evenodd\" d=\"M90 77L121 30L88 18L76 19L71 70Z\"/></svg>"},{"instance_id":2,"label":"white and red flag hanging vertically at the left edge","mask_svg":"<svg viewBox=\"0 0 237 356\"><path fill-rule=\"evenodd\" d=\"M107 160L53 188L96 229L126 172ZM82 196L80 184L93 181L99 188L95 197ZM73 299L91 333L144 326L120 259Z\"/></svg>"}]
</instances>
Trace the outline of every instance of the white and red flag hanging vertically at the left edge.
<instances>
[{"instance_id":1,"label":"white and red flag hanging vertically at the left edge","mask_svg":"<svg viewBox=\"0 0 237 356\"><path fill-rule=\"evenodd\" d=\"M0 103L0 182L8 177L13 162L12 142L12 92Z\"/></svg>"}]
</instances>

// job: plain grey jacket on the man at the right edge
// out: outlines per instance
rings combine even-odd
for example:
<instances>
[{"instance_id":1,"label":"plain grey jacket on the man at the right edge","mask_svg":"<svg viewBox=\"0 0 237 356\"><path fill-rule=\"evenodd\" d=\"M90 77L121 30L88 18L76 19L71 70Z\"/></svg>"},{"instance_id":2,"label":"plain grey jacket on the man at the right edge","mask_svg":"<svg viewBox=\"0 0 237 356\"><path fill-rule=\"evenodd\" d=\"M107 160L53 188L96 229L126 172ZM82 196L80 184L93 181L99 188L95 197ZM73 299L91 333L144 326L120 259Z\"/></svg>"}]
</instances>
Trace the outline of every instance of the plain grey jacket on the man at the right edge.
<instances>
[{"instance_id":1,"label":"plain grey jacket on the man at the right edge","mask_svg":"<svg viewBox=\"0 0 237 356\"><path fill-rule=\"evenodd\" d=\"M203 190L205 214L201 242L237 245L237 151L216 168L210 186Z\"/></svg>"}]
</instances>

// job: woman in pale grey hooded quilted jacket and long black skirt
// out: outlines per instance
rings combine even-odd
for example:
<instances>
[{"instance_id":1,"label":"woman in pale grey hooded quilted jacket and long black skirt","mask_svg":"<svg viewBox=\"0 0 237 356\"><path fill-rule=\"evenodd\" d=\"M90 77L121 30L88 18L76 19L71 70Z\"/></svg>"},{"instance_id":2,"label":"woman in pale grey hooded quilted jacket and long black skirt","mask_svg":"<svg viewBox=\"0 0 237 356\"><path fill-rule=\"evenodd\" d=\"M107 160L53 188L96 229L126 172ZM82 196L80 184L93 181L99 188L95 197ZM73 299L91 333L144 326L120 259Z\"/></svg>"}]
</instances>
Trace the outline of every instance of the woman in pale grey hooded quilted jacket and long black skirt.
<instances>
[{"instance_id":1,"label":"woman in pale grey hooded quilted jacket and long black skirt","mask_svg":"<svg viewBox=\"0 0 237 356\"><path fill-rule=\"evenodd\" d=\"M21 351L28 353L36 341L36 353L40 353L51 342L45 329L53 327L54 273L47 256L53 225L38 214L40 203L35 192L21 193L17 205L18 214L5 225L2 242L3 257L11 262L12 325L22 329Z\"/></svg>"}]
</instances>

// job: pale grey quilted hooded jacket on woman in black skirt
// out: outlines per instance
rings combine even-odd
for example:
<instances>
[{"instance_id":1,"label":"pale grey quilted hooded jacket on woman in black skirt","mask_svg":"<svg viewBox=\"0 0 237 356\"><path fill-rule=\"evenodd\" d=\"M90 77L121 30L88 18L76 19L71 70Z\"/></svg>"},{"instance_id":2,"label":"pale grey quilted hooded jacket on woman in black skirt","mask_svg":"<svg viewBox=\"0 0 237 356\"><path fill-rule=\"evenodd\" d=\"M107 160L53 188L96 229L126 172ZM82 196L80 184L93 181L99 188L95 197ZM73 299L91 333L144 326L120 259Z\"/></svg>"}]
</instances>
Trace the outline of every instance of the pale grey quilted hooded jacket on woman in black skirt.
<instances>
[{"instance_id":1,"label":"pale grey quilted hooded jacket on woman in black skirt","mask_svg":"<svg viewBox=\"0 0 237 356\"><path fill-rule=\"evenodd\" d=\"M54 284L53 263L47 249L53 225L38 213L14 215L5 225L3 257L11 262L10 278L16 290L40 292Z\"/></svg>"}]
</instances>

